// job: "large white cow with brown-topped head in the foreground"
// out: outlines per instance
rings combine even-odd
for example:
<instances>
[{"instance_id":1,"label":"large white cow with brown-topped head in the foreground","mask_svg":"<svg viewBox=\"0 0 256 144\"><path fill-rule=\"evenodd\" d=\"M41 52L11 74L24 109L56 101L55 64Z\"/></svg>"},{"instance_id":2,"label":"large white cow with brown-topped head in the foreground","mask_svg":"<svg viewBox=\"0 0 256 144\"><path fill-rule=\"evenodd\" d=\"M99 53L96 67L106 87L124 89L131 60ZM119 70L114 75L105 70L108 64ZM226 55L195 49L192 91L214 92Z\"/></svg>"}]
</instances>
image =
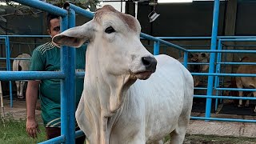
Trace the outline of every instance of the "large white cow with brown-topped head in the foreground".
<instances>
[{"instance_id":1,"label":"large white cow with brown-topped head in the foreground","mask_svg":"<svg viewBox=\"0 0 256 144\"><path fill-rule=\"evenodd\" d=\"M150 54L140 32L137 19L103 6L90 22L53 38L57 46L89 41L76 119L90 144L162 143L168 134L172 143L184 140L193 78L176 59Z\"/></svg>"}]
</instances>

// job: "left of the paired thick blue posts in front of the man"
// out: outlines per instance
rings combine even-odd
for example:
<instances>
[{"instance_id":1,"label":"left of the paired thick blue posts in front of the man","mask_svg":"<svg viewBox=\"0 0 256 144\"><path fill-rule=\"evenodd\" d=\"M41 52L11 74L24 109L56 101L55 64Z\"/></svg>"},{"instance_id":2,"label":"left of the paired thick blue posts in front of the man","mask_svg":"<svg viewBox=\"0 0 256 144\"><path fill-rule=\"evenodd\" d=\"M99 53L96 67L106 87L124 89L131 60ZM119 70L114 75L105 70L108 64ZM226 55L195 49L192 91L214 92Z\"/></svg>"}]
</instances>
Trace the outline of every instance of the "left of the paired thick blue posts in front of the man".
<instances>
[{"instance_id":1,"label":"left of the paired thick blue posts in front of the man","mask_svg":"<svg viewBox=\"0 0 256 144\"><path fill-rule=\"evenodd\" d=\"M62 22L61 22L61 30L64 31L68 28L68 17L62 17ZM64 72L65 74L65 79L61 81L61 133L64 135L65 142L67 140L67 135L68 133L68 125L69 125L69 119L67 118L68 115L68 97L69 92L67 84L68 84L68 64L67 62L69 61L67 58L69 57L68 55L68 49L67 46L62 46L61 48L61 71ZM72 87L70 85L70 87Z\"/></svg>"}]
</instances>

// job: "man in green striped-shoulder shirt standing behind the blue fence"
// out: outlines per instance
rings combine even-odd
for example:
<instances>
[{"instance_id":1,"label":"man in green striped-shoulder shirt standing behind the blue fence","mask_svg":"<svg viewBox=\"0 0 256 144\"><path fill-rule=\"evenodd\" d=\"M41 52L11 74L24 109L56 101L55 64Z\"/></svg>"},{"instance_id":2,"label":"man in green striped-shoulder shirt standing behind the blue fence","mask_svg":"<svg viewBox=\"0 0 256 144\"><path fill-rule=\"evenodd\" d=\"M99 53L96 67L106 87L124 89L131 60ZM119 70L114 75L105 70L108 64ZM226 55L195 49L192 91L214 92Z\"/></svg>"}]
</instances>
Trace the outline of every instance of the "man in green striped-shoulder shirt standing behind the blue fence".
<instances>
[{"instance_id":1,"label":"man in green striped-shoulder shirt standing behind the blue fence","mask_svg":"<svg viewBox=\"0 0 256 144\"><path fill-rule=\"evenodd\" d=\"M47 15L48 33L53 38L60 32L60 20L57 15ZM76 71L85 70L86 46L76 50ZM60 49L52 42L38 46L34 49L30 71L59 71L60 70ZM76 107L82 95L83 78L77 78L76 84ZM38 122L35 119L35 108L38 99L38 89L40 84L39 98L41 100L42 120L46 126L47 139L55 138L61 135L61 102L60 102L60 79L46 79L42 81L29 81L26 90L26 131L32 137L36 138ZM83 143L85 137L77 138L76 143Z\"/></svg>"}]
</instances>

